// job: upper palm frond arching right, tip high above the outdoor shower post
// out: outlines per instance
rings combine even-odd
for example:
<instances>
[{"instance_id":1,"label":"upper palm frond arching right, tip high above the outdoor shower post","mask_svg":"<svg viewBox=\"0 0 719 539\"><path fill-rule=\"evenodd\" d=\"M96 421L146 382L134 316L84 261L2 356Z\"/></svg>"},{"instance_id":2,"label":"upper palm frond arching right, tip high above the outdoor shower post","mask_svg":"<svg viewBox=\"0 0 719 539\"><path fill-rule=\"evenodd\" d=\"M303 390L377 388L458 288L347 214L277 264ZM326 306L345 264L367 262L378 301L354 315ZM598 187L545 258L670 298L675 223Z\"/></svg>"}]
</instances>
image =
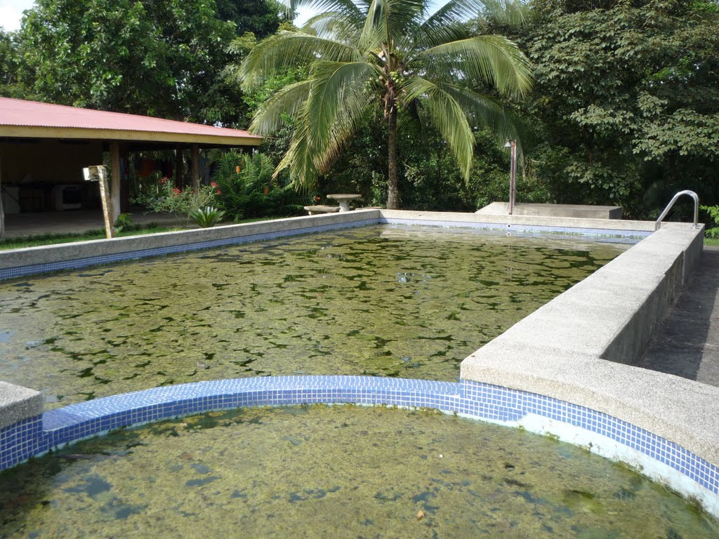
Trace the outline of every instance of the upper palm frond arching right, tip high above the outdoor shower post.
<instances>
[{"instance_id":1,"label":"upper palm frond arching right, tip high above the outdoor shower post","mask_svg":"<svg viewBox=\"0 0 719 539\"><path fill-rule=\"evenodd\" d=\"M506 37L480 35L431 47L416 56L428 78L484 80L501 93L525 96L533 86L528 58Z\"/></svg>"}]
</instances>

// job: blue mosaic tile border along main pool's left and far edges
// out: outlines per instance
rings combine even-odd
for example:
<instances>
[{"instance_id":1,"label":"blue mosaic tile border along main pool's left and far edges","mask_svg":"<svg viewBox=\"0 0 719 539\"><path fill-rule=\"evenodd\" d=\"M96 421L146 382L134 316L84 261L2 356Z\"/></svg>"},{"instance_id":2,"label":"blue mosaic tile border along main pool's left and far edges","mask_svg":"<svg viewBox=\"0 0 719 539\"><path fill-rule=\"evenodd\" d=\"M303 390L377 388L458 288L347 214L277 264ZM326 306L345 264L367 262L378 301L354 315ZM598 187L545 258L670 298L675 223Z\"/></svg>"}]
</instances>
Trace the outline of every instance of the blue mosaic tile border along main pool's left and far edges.
<instances>
[{"instance_id":1,"label":"blue mosaic tile border along main pool's left and far edges","mask_svg":"<svg viewBox=\"0 0 719 539\"><path fill-rule=\"evenodd\" d=\"M313 234L317 232L349 229L358 226L368 226L372 224L404 224L438 226L444 228L481 229L483 232L485 232L485 234L500 236L511 235L521 237L536 237L551 234L551 236L557 239L577 239L578 236L585 236L592 239L592 241L623 244L636 244L641 241L641 239L644 239L646 236L649 236L651 234L651 232L649 231L622 231L614 229L567 228L560 226L471 223L467 221L431 221L429 219L371 218L362 219L361 221L347 221L344 223L306 226L299 229L265 232L262 234L249 234L247 236L236 236L233 238L197 241L194 243L173 245L170 247L138 249L137 251L127 251L115 254L103 254L96 257L84 257L78 259L63 260L60 262L47 262L43 264L32 264L27 266L2 268L0 269L0 280L14 279L17 277L29 277L31 275L40 275L42 273L58 272L62 270L81 270L86 267L97 266L100 264L112 264L115 262L125 262L127 260L159 257L165 254L177 254L181 252L198 251L201 249L211 249L213 247L227 247L229 245L251 243L255 241L267 241L270 239L278 239L288 236L299 236L302 234Z\"/></svg>"}]
</instances>

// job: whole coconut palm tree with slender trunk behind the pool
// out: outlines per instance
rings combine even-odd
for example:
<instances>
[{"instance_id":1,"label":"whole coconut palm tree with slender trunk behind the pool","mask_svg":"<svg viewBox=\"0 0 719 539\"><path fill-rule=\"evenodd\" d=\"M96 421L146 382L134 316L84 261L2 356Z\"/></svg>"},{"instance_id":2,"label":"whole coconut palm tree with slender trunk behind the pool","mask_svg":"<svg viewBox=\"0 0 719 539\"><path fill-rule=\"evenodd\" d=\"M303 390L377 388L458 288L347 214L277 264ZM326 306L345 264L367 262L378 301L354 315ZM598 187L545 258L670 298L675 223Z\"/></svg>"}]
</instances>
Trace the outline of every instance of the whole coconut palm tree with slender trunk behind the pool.
<instances>
[{"instance_id":1,"label":"whole coconut palm tree with slender trunk behind the pool","mask_svg":"<svg viewBox=\"0 0 719 539\"><path fill-rule=\"evenodd\" d=\"M521 98L532 78L513 42L473 36L462 20L489 12L514 22L523 10L513 1L449 0L428 16L429 0L296 0L290 9L305 4L324 12L301 30L260 42L239 68L243 90L253 91L272 75L306 66L307 80L276 93L250 125L266 135L294 117L290 149L275 173L289 166L294 181L311 182L342 152L368 112L380 107L388 136L387 208L399 207L398 109L429 118L467 180L472 126L506 130L510 124L498 99L471 88L488 85Z\"/></svg>"}]
</instances>

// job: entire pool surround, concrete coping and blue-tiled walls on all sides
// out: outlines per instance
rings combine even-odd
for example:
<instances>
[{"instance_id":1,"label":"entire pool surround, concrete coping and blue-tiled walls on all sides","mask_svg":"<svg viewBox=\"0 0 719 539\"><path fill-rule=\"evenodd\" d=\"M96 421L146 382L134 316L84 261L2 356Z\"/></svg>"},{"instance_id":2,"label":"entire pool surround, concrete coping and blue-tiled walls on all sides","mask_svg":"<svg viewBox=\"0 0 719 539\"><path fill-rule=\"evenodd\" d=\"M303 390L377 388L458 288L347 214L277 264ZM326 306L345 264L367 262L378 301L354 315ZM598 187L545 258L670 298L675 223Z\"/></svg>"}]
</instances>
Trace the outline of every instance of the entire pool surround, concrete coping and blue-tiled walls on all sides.
<instances>
[{"instance_id":1,"label":"entire pool surround, concrete coping and blue-tiled walls on all sides","mask_svg":"<svg viewBox=\"0 0 719 539\"><path fill-rule=\"evenodd\" d=\"M688 224L665 224L651 234L654 223L644 221L353 211L18 249L0 253L0 279L376 223L476 226L495 234L603 236L605 241L649 237L467 357L459 383L370 377L199 382L96 399L44 415L38 413L40 394L3 384L0 469L111 428L221 407L422 406L552 433L640 466L719 516L719 388L631 365L698 262L703 230Z\"/></svg>"}]
</instances>

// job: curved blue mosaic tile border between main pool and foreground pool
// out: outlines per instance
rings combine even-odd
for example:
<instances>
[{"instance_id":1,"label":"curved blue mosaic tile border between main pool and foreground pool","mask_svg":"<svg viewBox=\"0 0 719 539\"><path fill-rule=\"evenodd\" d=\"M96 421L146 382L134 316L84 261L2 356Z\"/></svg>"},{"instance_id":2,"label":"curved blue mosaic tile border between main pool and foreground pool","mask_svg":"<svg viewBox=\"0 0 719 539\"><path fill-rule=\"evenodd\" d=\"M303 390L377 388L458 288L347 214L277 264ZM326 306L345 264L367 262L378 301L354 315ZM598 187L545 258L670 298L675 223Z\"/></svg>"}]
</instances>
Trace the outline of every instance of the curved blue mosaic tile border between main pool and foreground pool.
<instances>
[{"instance_id":1,"label":"curved blue mosaic tile border between main pool and foreground pool","mask_svg":"<svg viewBox=\"0 0 719 539\"><path fill-rule=\"evenodd\" d=\"M600 434L670 466L713 494L719 469L636 425L544 395L481 382L358 376L256 377L196 382L81 402L0 430L0 469L65 443L150 421L260 405L354 403L425 407L514 422L528 414Z\"/></svg>"}]
</instances>

